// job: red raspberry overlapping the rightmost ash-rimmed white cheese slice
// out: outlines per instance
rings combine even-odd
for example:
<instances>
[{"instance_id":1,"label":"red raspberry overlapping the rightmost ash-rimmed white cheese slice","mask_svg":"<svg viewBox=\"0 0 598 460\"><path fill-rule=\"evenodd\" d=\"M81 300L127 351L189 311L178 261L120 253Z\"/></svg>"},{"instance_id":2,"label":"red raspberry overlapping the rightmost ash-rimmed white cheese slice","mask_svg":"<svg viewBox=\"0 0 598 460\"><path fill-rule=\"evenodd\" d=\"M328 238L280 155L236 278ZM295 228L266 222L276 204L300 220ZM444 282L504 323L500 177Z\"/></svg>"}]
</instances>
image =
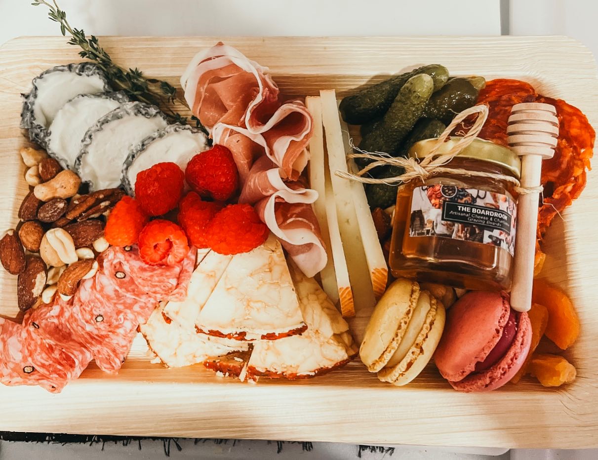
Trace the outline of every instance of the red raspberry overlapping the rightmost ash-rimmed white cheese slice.
<instances>
[{"instance_id":1,"label":"red raspberry overlapping the rightmost ash-rimmed white cheese slice","mask_svg":"<svg viewBox=\"0 0 598 460\"><path fill-rule=\"evenodd\" d=\"M173 210L181 199L185 174L176 163L154 164L137 174L135 198L150 216Z\"/></svg>"}]
</instances>

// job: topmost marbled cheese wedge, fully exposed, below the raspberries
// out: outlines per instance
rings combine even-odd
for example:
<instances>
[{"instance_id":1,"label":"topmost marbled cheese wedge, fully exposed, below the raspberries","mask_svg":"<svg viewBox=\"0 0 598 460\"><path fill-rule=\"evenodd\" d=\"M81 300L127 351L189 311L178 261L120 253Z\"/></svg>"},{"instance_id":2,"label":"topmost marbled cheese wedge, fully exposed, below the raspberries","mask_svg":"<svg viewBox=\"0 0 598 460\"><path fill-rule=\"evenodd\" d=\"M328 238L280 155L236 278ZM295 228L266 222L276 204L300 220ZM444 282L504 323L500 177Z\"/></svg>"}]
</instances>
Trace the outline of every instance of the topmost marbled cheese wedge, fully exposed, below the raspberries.
<instances>
[{"instance_id":1,"label":"topmost marbled cheese wedge, fully exposed, below the raspberries","mask_svg":"<svg viewBox=\"0 0 598 460\"><path fill-rule=\"evenodd\" d=\"M279 339L306 328L274 235L251 252L232 257L196 320L197 332L243 341Z\"/></svg>"}]
</instances>

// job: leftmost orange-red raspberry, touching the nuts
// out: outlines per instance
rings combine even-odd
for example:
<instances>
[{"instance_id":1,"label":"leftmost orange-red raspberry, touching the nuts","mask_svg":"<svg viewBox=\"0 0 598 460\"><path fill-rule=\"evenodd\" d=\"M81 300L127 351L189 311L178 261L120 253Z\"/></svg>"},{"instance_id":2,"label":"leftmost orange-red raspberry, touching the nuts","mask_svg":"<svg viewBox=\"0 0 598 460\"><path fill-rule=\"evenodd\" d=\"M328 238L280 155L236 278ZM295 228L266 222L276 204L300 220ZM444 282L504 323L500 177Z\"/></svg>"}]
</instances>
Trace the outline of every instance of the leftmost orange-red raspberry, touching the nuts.
<instances>
[{"instance_id":1,"label":"leftmost orange-red raspberry, touching the nuts","mask_svg":"<svg viewBox=\"0 0 598 460\"><path fill-rule=\"evenodd\" d=\"M137 243L139 233L149 217L131 197L123 197L108 216L104 237L112 246L130 246Z\"/></svg>"}]
</instances>

